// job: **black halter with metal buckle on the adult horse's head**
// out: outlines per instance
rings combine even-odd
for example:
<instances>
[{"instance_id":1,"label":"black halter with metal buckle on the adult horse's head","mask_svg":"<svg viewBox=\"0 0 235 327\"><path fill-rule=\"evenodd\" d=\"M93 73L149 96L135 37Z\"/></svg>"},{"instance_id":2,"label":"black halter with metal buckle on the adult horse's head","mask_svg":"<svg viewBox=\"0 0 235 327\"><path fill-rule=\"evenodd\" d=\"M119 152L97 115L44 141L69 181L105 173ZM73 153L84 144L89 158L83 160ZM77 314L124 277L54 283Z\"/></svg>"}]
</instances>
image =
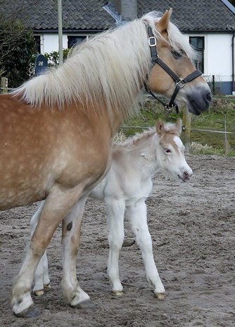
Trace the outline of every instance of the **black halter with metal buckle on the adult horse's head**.
<instances>
[{"instance_id":1,"label":"black halter with metal buckle on the adult horse's head","mask_svg":"<svg viewBox=\"0 0 235 327\"><path fill-rule=\"evenodd\" d=\"M160 103L165 105L165 108L170 109L170 108L174 107L176 112L179 113L179 107L178 107L177 103L174 102L174 99L176 98L179 90L182 89L182 87L184 87L184 85L186 83L191 82L193 79L196 79L197 77L201 76L202 72L200 72L200 70L194 70L194 72L191 72L191 74L189 74L185 78L179 78L179 76L177 76L173 72L173 70L171 70L170 67L167 66L164 63L164 61L159 58L158 51L157 51L157 39L153 35L153 30L150 26L148 26L148 45L149 45L150 51L151 51L151 58L152 58L152 64L153 64L152 67L156 63L158 65L160 65L160 67L163 68L167 72L167 74L169 74L170 77L172 77L172 79L174 79L175 89L172 94L172 97L170 98L170 101L167 103L164 103L163 101L160 100L160 98L158 98L158 96L155 96L155 94L153 94L153 92L150 89L148 89L148 86L146 84L144 84L144 87L145 87L146 91L149 94L151 94L151 96L153 96L153 98L155 98Z\"/></svg>"}]
</instances>

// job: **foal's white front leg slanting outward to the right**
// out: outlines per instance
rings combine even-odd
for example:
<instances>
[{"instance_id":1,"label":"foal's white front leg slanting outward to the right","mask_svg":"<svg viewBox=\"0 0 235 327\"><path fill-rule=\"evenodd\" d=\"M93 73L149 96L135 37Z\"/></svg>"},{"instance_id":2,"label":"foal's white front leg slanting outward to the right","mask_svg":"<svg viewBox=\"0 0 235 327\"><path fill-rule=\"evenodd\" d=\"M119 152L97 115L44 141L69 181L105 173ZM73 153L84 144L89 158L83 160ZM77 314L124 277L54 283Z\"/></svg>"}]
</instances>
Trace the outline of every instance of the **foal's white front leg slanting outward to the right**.
<instances>
[{"instance_id":1,"label":"foal's white front leg slanting outward to the right","mask_svg":"<svg viewBox=\"0 0 235 327\"><path fill-rule=\"evenodd\" d=\"M154 294L158 299L163 299L165 288L160 280L158 269L153 259L153 245L148 231L147 211L144 199L127 207L127 217L132 225L132 231L136 236L136 243L141 249L147 280L154 287Z\"/></svg>"}]
</instances>

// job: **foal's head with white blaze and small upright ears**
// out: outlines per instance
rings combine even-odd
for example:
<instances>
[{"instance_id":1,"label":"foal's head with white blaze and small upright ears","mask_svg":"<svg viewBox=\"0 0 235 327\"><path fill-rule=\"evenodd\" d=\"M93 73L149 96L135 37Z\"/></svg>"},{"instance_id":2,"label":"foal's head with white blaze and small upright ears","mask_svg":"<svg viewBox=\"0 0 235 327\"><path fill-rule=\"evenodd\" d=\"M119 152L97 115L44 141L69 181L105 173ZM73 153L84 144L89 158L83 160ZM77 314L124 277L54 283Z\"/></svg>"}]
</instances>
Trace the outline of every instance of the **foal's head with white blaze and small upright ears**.
<instances>
[{"instance_id":1,"label":"foal's head with white blaze and small upright ears","mask_svg":"<svg viewBox=\"0 0 235 327\"><path fill-rule=\"evenodd\" d=\"M163 171L174 179L189 181L193 172L184 158L184 144L179 138L182 132L182 121L178 119L176 124L172 124L158 120L156 129L158 159Z\"/></svg>"}]
</instances>

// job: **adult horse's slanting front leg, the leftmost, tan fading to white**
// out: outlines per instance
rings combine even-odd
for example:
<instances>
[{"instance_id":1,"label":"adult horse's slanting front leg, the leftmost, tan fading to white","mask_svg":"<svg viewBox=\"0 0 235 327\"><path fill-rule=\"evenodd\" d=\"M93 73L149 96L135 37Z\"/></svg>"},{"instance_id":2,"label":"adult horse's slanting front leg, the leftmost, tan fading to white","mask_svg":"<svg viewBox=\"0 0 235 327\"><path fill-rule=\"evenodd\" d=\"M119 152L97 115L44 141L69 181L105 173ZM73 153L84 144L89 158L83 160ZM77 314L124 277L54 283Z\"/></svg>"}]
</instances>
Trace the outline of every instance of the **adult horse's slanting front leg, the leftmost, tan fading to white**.
<instances>
[{"instance_id":1,"label":"adult horse's slanting front leg, the leftmost, tan fading to white","mask_svg":"<svg viewBox=\"0 0 235 327\"><path fill-rule=\"evenodd\" d=\"M16 316L36 314L30 308L33 304L30 289L34 272L58 224L70 212L78 198L80 198L82 191L83 187L81 186L77 186L72 190L63 190L58 186L54 186L47 196L39 223L30 241L27 255L13 286L12 304Z\"/></svg>"}]
</instances>

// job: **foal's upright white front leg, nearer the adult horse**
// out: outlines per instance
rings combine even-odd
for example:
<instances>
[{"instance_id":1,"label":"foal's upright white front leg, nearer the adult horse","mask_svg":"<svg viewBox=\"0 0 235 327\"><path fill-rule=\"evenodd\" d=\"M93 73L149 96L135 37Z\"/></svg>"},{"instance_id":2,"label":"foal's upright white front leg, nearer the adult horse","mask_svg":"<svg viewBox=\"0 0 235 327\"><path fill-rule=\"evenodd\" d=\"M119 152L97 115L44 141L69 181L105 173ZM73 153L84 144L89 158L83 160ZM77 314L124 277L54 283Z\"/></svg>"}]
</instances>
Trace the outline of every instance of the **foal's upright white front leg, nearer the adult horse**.
<instances>
[{"instance_id":1,"label":"foal's upright white front leg, nearer the adult horse","mask_svg":"<svg viewBox=\"0 0 235 327\"><path fill-rule=\"evenodd\" d=\"M118 259L124 239L124 212L125 200L106 200L109 225L109 255L108 255L108 278L115 295L122 295L122 283L119 276Z\"/></svg>"}]
</instances>

